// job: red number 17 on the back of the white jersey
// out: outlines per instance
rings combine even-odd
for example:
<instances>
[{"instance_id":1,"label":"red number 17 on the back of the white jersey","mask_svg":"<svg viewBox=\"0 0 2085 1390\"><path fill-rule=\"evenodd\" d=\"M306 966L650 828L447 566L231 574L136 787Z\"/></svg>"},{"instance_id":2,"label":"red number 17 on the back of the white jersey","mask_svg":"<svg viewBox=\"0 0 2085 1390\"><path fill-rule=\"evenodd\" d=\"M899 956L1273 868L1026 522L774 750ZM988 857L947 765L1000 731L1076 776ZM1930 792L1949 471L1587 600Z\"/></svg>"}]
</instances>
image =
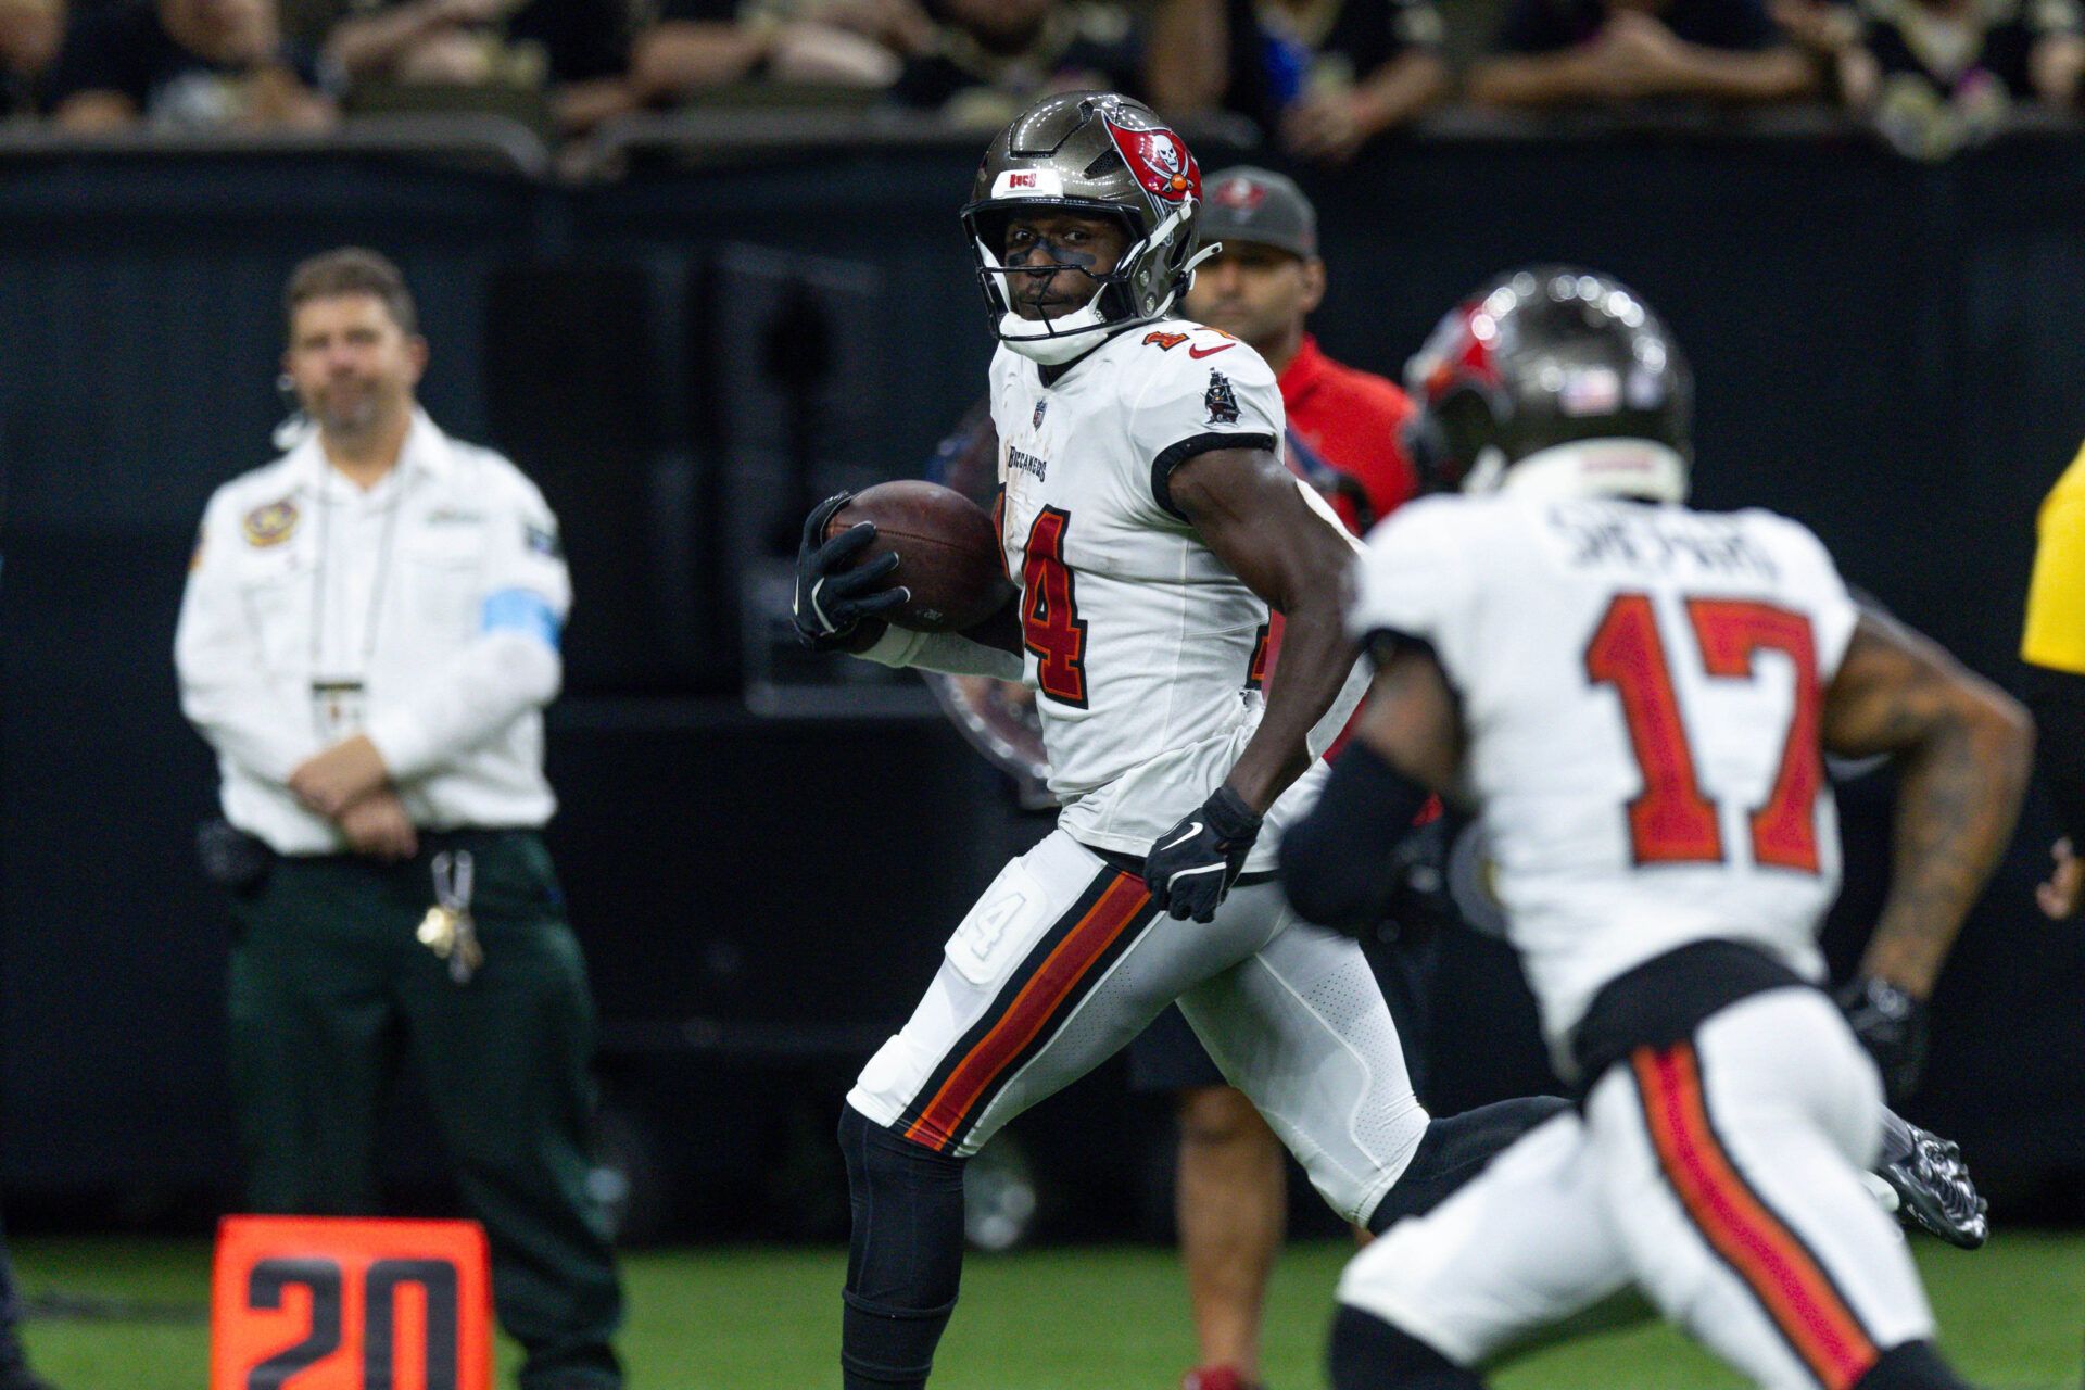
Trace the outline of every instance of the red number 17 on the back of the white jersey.
<instances>
[{"instance_id":1,"label":"red number 17 on the back of the white jersey","mask_svg":"<svg viewBox=\"0 0 2085 1390\"><path fill-rule=\"evenodd\" d=\"M1818 871L1816 800L1824 788L1818 746L1822 692L1810 619L1739 598L1689 598L1687 621L1701 648L1701 669L1718 679L1753 679L1762 650L1795 665L1795 700L1781 767L1766 804L1751 811L1751 857L1776 869ZM1645 594L1620 594L1585 648L1593 684L1614 686L1643 792L1628 802L1628 840L1639 865L1718 863L1724 859L1716 802L1701 794L1672 663Z\"/></svg>"}]
</instances>

